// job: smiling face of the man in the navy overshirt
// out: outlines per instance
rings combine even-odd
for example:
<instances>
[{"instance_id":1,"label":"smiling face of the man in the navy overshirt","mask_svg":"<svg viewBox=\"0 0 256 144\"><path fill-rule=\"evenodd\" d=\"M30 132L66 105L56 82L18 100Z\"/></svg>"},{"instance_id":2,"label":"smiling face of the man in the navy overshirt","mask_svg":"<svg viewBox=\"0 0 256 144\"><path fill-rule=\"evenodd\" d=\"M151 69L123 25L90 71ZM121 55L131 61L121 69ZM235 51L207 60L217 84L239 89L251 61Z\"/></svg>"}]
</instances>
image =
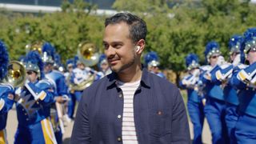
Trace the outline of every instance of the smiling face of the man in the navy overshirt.
<instances>
[{"instance_id":1,"label":"smiling face of the man in the navy overshirt","mask_svg":"<svg viewBox=\"0 0 256 144\"><path fill-rule=\"evenodd\" d=\"M107 61L114 72L130 70L136 65L135 58L137 54L126 23L120 22L106 26L103 44Z\"/></svg>"}]
</instances>

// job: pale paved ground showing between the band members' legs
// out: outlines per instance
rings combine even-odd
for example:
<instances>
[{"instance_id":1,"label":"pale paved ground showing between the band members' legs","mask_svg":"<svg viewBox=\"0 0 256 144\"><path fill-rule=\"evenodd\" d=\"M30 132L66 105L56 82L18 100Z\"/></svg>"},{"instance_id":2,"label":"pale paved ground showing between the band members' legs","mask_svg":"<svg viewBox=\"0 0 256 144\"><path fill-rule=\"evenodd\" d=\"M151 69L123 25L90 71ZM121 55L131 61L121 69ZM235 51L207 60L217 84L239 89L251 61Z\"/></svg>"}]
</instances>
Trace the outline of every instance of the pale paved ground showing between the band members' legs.
<instances>
[{"instance_id":1,"label":"pale paved ground showing between the band members' legs","mask_svg":"<svg viewBox=\"0 0 256 144\"><path fill-rule=\"evenodd\" d=\"M67 123L66 122L66 132L63 135L63 143L68 144L70 142L70 136L72 133L72 128L73 128L74 122ZM10 110L8 114L8 122L7 122L7 140L9 141L10 144L14 143L14 134L17 129L17 117L16 117L16 111L15 109ZM190 122L190 134L191 138L193 138L193 127ZM211 143L211 136L210 136L210 130L207 122L205 121L205 125L203 128L203 134L202 134L202 141L206 144Z\"/></svg>"}]
</instances>

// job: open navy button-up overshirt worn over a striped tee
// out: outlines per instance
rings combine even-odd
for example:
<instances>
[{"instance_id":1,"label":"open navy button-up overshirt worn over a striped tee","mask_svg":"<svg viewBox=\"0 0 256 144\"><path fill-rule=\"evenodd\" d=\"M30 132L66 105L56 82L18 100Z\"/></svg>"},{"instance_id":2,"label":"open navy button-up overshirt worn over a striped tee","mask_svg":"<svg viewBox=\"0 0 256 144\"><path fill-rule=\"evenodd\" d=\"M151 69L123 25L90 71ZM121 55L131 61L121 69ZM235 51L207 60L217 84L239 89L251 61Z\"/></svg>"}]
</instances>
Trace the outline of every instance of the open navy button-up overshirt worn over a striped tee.
<instances>
[{"instance_id":1,"label":"open navy button-up overshirt worn over a striped tee","mask_svg":"<svg viewBox=\"0 0 256 144\"><path fill-rule=\"evenodd\" d=\"M112 73L84 90L70 143L122 141L123 98L116 82ZM146 69L134 94L134 124L138 143L190 143L186 108L178 88Z\"/></svg>"}]
</instances>

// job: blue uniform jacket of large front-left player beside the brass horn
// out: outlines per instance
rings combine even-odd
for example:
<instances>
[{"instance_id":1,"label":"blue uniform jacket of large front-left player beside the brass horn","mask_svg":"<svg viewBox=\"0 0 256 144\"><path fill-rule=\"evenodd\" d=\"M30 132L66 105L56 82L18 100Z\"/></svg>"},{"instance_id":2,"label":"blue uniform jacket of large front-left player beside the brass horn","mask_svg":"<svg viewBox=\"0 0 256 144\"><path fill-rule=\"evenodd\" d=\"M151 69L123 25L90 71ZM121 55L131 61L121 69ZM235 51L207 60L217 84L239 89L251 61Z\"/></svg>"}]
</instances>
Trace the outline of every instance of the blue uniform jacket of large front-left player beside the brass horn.
<instances>
[{"instance_id":1,"label":"blue uniform jacket of large front-left player beside the brass horn","mask_svg":"<svg viewBox=\"0 0 256 144\"><path fill-rule=\"evenodd\" d=\"M28 82L16 102L18 125L29 126L50 117L50 104L54 102L53 86L46 79Z\"/></svg>"}]
</instances>

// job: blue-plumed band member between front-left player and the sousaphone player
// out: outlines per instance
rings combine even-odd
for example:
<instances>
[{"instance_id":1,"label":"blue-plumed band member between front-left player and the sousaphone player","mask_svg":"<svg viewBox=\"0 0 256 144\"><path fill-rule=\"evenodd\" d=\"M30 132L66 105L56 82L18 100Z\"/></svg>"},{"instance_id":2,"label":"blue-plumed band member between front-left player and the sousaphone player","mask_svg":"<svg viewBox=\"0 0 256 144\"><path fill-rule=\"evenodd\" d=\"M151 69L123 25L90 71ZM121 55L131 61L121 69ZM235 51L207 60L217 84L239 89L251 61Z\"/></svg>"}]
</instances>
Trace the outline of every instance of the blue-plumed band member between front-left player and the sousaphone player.
<instances>
[{"instance_id":1,"label":"blue-plumed band member between front-left player and the sousaphone player","mask_svg":"<svg viewBox=\"0 0 256 144\"><path fill-rule=\"evenodd\" d=\"M54 134L58 144L62 143L62 134L65 132L64 123L62 121L62 103L66 102L69 97L67 94L67 86L64 74L57 70L53 70L54 66L54 47L50 43L45 42L42 46L42 61L45 63L44 72L46 78L54 83L54 105L51 106L51 117L53 118Z\"/></svg>"}]
</instances>

